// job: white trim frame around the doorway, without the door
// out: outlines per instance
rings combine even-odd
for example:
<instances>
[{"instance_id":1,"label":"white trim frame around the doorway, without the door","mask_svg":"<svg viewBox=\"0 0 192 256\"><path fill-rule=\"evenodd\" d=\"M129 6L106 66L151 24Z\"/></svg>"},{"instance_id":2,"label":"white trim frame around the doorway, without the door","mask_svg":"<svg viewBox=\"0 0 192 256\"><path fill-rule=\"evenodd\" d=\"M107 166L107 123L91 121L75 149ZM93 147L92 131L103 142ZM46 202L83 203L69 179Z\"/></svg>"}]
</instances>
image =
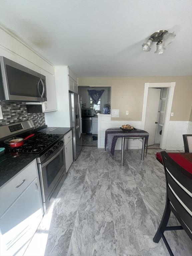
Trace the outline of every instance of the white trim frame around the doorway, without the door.
<instances>
[{"instance_id":1,"label":"white trim frame around the doorway, without the door","mask_svg":"<svg viewBox=\"0 0 192 256\"><path fill-rule=\"evenodd\" d=\"M165 113L165 123L162 129L162 138L160 143L160 148L166 148L166 141L168 135L169 121L171 116L171 107L173 102L173 94L175 90L176 82L168 82L168 83L145 83L144 86L144 96L143 96L143 110L142 110L142 118L141 118L141 129L145 127L145 119L146 119L146 110L147 110L147 98L148 98L148 90L149 88L161 88L161 87L169 87L169 95L167 102L167 110Z\"/></svg>"}]
</instances>

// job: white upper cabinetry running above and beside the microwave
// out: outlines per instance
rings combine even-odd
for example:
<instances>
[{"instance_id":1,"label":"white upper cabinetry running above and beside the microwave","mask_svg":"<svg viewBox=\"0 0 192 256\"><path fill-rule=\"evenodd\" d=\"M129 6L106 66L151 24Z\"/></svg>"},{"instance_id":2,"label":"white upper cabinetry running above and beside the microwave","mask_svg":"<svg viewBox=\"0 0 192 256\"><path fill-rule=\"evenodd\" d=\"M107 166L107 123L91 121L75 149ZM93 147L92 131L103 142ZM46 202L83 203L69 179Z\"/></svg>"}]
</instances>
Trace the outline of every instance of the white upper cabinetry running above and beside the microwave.
<instances>
[{"instance_id":1,"label":"white upper cabinetry running above and beside the microwave","mask_svg":"<svg viewBox=\"0 0 192 256\"><path fill-rule=\"evenodd\" d=\"M54 79L54 67L32 49L21 43L10 32L0 28L1 45L0 55L15 61L27 68L30 68L46 76L47 101L28 102L27 104L41 104L42 112L57 110L56 89Z\"/></svg>"}]
</instances>

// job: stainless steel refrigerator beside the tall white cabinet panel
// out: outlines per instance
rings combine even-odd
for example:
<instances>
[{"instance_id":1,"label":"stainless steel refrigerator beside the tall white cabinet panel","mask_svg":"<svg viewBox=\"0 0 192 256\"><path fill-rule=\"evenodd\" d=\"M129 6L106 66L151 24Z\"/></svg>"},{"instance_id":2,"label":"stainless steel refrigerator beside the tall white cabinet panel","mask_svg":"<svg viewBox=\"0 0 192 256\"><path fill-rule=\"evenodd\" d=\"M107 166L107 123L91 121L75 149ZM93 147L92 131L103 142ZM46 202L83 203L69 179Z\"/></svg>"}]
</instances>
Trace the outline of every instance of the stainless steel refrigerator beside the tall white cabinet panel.
<instances>
[{"instance_id":1,"label":"stainless steel refrigerator beside the tall white cabinet panel","mask_svg":"<svg viewBox=\"0 0 192 256\"><path fill-rule=\"evenodd\" d=\"M70 124L73 133L73 159L77 159L82 150L81 96L69 93Z\"/></svg>"}]
</instances>

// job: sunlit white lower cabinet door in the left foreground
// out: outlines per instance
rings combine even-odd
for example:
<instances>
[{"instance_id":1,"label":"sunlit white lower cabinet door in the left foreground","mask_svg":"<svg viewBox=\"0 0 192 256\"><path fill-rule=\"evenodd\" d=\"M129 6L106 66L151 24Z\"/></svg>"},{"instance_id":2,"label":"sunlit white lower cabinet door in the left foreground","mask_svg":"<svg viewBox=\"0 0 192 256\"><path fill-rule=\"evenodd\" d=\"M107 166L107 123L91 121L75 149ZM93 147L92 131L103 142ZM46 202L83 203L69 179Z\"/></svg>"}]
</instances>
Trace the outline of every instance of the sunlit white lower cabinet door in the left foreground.
<instances>
[{"instance_id":1,"label":"sunlit white lower cabinet door in the left foreground","mask_svg":"<svg viewBox=\"0 0 192 256\"><path fill-rule=\"evenodd\" d=\"M33 170L35 173L36 171L37 169ZM37 176L1 216L0 255L23 255L42 216L42 199Z\"/></svg>"}]
</instances>

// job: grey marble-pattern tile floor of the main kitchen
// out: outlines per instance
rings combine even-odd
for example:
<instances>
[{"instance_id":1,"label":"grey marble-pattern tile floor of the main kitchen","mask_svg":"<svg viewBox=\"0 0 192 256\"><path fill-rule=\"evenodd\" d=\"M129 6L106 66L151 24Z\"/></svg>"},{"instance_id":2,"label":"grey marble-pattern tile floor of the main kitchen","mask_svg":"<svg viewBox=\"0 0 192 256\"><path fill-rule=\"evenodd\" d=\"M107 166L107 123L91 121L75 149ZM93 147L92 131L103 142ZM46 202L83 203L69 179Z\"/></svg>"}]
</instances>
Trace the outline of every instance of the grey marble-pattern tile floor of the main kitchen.
<instances>
[{"instance_id":1,"label":"grey marble-pattern tile floor of the main kitchen","mask_svg":"<svg viewBox=\"0 0 192 256\"><path fill-rule=\"evenodd\" d=\"M83 147L43 217L25 256L164 256L153 236L164 211L166 188L157 150L120 151L112 159L104 149ZM170 224L177 225L173 215ZM183 230L165 233L175 256L191 256Z\"/></svg>"}]
</instances>

